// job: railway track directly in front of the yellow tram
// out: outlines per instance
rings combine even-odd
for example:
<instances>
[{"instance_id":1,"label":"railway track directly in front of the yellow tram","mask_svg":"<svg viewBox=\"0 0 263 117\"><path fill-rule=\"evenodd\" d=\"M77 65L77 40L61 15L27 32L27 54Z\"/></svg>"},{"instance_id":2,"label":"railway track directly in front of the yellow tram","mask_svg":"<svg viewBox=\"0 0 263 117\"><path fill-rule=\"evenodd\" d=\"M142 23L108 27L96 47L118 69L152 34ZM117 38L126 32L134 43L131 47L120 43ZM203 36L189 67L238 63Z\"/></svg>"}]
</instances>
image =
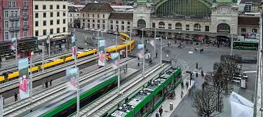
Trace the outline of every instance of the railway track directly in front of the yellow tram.
<instances>
[{"instance_id":1,"label":"railway track directly in front of the yellow tram","mask_svg":"<svg viewBox=\"0 0 263 117\"><path fill-rule=\"evenodd\" d=\"M93 60L97 60L97 55L92 55L90 57L84 57L78 60L77 65L85 64L87 62L91 62ZM41 78L46 78L47 76L57 74L61 71L65 71L67 67L73 66L74 62L68 62L67 64L61 64L57 67L52 67L50 69L46 69L43 73L36 72L33 74L33 82L38 81ZM7 90L12 90L13 88L18 88L18 79L15 79L13 81L9 81L8 83L4 83L0 85L0 93L4 93Z\"/></svg>"}]
</instances>

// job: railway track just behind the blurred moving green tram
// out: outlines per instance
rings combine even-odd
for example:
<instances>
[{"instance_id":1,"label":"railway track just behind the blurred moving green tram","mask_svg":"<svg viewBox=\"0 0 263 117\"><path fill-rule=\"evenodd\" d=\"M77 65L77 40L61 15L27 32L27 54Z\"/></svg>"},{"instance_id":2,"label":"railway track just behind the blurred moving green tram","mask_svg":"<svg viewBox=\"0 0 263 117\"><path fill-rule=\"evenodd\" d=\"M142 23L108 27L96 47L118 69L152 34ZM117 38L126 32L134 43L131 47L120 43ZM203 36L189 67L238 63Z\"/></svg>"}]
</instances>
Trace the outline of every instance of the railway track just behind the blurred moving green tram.
<instances>
[{"instance_id":1,"label":"railway track just behind the blurred moving green tram","mask_svg":"<svg viewBox=\"0 0 263 117\"><path fill-rule=\"evenodd\" d=\"M128 58L127 60L121 60L121 64L127 64L132 60L132 58ZM90 73L84 73L85 69L83 69L82 71L83 76L81 76L79 79L80 87L83 87L83 85L90 83L90 81L94 81L97 78L105 76L105 74L107 74L107 76L111 76L114 74L110 65L106 67L106 69L100 68ZM36 107L40 108L41 104L45 104L46 102L49 102L50 100L56 99L58 97L62 97L62 95L66 95L67 92L69 91L67 91L67 85L65 84L65 82L60 83L59 85L51 87L47 90L43 90L42 92L39 92L38 94L34 95L32 103L30 102L30 98L27 98L5 106L4 116L25 116L27 113L29 113L30 109L36 110Z\"/></svg>"}]
</instances>

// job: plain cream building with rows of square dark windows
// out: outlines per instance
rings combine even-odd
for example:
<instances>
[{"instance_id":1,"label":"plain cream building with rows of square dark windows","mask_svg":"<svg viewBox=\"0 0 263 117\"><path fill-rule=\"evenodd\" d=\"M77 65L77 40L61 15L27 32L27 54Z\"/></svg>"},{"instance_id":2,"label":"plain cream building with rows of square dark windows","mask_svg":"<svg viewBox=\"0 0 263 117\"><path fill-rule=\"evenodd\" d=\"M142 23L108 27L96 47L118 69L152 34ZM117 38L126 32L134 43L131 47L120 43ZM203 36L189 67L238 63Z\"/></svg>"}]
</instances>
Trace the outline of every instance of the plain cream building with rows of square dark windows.
<instances>
[{"instance_id":1,"label":"plain cream building with rows of square dark windows","mask_svg":"<svg viewBox=\"0 0 263 117\"><path fill-rule=\"evenodd\" d=\"M67 0L34 0L34 36L39 40L66 38L68 34Z\"/></svg>"}]
</instances>

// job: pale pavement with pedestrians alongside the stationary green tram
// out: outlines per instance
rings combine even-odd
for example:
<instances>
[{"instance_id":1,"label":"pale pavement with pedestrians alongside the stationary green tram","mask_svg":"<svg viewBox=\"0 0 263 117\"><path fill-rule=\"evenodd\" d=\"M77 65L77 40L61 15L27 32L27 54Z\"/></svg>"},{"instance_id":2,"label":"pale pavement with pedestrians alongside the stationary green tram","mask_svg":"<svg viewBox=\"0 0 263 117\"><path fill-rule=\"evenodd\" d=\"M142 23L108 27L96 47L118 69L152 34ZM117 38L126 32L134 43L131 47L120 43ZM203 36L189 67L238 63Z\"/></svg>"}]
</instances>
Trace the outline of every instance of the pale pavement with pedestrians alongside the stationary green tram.
<instances>
[{"instance_id":1,"label":"pale pavement with pedestrians alongside the stationary green tram","mask_svg":"<svg viewBox=\"0 0 263 117\"><path fill-rule=\"evenodd\" d=\"M151 113L150 116L155 117L156 111L158 111L161 106L163 106L163 113L161 115L162 117L175 116L175 113L173 113L173 112L175 111L176 107L180 104L182 99L187 95L191 86L194 85L194 81L191 81L191 85L187 88L187 86L185 85L185 83L187 81L189 81L189 78L186 78L183 81L184 89L182 89L181 84L178 85L177 88L175 88L175 99L164 100L164 102L153 113ZM183 92L184 92L182 98L181 98L181 90L183 90ZM172 111L170 111L170 103L173 103L173 110Z\"/></svg>"}]
</instances>

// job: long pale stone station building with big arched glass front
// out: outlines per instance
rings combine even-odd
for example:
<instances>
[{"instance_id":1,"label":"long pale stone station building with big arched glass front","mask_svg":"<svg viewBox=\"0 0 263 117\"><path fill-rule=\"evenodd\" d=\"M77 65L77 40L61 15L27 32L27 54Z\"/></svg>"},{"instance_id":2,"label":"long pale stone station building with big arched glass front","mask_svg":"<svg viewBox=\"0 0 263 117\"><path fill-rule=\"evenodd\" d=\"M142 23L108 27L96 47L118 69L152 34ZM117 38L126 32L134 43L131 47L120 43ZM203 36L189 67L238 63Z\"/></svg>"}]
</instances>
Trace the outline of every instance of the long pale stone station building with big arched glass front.
<instances>
[{"instance_id":1,"label":"long pale stone station building with big arched glass front","mask_svg":"<svg viewBox=\"0 0 263 117\"><path fill-rule=\"evenodd\" d=\"M108 4L87 4L81 28L142 32L170 39L230 39L259 33L259 16L242 15L232 0L135 1L132 12L114 11ZM259 7L261 8L261 7ZM102 21L100 21L102 20ZM252 21L252 22L251 22Z\"/></svg>"}]
</instances>

